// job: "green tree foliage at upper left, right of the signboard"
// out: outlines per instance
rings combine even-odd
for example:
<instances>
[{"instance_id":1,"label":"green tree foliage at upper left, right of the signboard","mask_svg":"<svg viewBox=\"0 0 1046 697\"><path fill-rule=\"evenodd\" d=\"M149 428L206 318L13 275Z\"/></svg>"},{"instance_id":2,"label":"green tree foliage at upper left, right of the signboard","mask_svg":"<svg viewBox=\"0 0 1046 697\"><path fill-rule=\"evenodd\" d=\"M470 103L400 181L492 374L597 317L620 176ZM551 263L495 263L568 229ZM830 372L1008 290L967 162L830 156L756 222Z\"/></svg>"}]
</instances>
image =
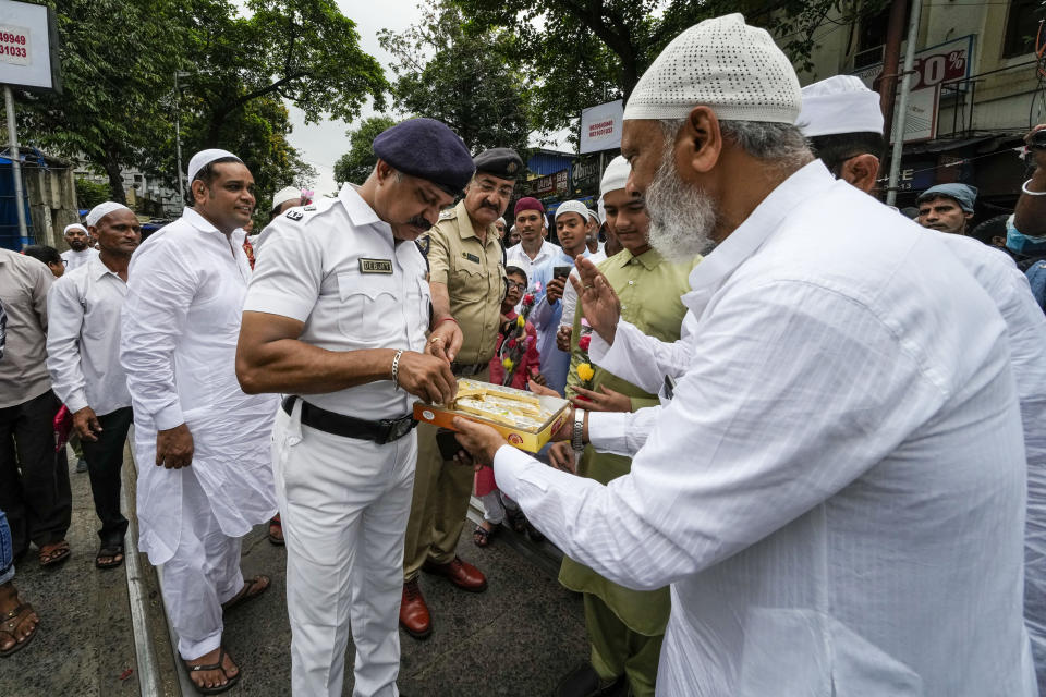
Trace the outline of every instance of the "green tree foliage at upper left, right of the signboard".
<instances>
[{"instance_id":1,"label":"green tree foliage at upper left, right of the signboard","mask_svg":"<svg viewBox=\"0 0 1046 697\"><path fill-rule=\"evenodd\" d=\"M384 103L384 71L335 0L248 0L243 14L230 0L51 4L64 94L20 95L23 138L106 171L117 200L125 168L175 186L175 119L183 171L196 150L222 147L265 196L315 176L288 143L284 100L307 122Z\"/></svg>"}]
</instances>

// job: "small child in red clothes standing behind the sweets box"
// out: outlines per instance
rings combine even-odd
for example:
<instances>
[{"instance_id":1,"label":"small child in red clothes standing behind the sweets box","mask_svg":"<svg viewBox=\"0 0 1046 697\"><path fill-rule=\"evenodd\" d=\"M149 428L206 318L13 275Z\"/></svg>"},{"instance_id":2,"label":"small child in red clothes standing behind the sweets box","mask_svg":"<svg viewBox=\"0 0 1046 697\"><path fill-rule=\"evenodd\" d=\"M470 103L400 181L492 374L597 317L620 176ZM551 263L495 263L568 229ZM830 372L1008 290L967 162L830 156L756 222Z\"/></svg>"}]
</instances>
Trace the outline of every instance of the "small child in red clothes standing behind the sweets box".
<instances>
[{"instance_id":1,"label":"small child in red clothes standing behind the sweets box","mask_svg":"<svg viewBox=\"0 0 1046 697\"><path fill-rule=\"evenodd\" d=\"M540 355L537 351L537 331L534 325L525 321L521 332L518 323L520 316L514 309L526 291L526 272L510 266L506 267L504 276L508 279L508 290L501 301L501 331L494 358L490 359L490 382L525 390L530 379L545 384L545 378L538 372ZM506 516L518 533L531 534L531 530L534 530L532 535L540 535L527 524L515 502L501 496L494 481L491 467L476 467L475 488L476 496L483 501L483 523L477 525L472 534L472 540L477 547L490 543L490 536L499 529Z\"/></svg>"}]
</instances>

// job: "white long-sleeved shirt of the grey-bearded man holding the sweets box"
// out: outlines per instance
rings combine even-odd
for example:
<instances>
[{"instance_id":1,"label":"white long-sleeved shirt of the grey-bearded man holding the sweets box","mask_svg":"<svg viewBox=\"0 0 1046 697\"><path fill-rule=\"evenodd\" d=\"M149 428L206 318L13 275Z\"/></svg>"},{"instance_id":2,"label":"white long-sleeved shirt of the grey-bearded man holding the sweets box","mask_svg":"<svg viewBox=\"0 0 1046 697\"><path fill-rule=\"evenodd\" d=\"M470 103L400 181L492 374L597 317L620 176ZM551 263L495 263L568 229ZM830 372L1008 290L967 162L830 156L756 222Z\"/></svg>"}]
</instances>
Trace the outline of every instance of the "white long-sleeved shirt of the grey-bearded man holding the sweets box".
<instances>
[{"instance_id":1,"label":"white long-sleeved shirt of the grey-bearded man holding the sweets box","mask_svg":"<svg viewBox=\"0 0 1046 697\"><path fill-rule=\"evenodd\" d=\"M1020 412L976 281L819 162L690 278L693 360L629 475L495 458L564 553L671 584L658 694L1033 695Z\"/></svg>"}]
</instances>

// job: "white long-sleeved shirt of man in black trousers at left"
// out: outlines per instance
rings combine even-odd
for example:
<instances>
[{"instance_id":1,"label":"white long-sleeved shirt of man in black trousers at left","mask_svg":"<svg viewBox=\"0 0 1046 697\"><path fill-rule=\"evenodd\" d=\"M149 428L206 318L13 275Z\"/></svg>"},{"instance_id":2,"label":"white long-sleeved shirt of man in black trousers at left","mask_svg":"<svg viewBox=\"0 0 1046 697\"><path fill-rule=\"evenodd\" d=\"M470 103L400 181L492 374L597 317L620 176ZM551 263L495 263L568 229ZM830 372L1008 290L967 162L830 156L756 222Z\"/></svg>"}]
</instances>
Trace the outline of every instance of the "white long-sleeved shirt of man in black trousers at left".
<instances>
[{"instance_id":1,"label":"white long-sleeved shirt of man in black trousers at left","mask_svg":"<svg viewBox=\"0 0 1046 697\"><path fill-rule=\"evenodd\" d=\"M98 416L131 406L120 365L120 309L127 284L94 255L47 293L47 369L70 412Z\"/></svg>"}]
</instances>

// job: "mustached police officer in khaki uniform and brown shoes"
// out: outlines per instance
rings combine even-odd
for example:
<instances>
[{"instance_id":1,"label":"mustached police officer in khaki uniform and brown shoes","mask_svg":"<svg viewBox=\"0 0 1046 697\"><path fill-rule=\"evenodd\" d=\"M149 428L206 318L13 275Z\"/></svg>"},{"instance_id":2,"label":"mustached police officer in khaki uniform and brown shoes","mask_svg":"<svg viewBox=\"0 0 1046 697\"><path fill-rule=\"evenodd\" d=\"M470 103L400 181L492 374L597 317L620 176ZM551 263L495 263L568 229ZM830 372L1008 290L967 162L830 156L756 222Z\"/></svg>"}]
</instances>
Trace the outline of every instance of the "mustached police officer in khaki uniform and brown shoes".
<instances>
[{"instance_id":1,"label":"mustached police officer in khaki uniform and brown shoes","mask_svg":"<svg viewBox=\"0 0 1046 697\"><path fill-rule=\"evenodd\" d=\"M427 256L434 330L451 322L461 327L461 345L446 346L451 368L458 377L486 380L504 296L503 252L494 223L512 198L523 161L509 148L494 148L481 152L474 162L476 173L464 199L441 213L429 231ZM400 624L421 639L431 633L433 623L418 587L419 571L445 576L471 592L485 590L487 579L454 554L469 510L472 467L442 458L435 426L418 426L417 447Z\"/></svg>"}]
</instances>

